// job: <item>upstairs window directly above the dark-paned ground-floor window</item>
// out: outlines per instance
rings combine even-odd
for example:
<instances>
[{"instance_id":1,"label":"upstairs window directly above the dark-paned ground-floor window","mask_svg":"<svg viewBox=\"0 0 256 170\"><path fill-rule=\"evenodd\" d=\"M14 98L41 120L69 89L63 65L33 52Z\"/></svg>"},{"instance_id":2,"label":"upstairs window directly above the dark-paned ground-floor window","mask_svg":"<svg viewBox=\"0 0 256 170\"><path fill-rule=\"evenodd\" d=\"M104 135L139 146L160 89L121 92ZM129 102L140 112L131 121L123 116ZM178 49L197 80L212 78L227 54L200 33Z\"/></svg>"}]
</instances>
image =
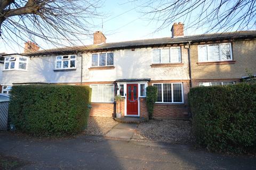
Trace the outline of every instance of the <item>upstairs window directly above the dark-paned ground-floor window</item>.
<instances>
[{"instance_id":1,"label":"upstairs window directly above the dark-paned ground-floor window","mask_svg":"<svg viewBox=\"0 0 256 170\"><path fill-rule=\"evenodd\" d=\"M181 63L180 47L153 49L153 63Z\"/></svg>"}]
</instances>

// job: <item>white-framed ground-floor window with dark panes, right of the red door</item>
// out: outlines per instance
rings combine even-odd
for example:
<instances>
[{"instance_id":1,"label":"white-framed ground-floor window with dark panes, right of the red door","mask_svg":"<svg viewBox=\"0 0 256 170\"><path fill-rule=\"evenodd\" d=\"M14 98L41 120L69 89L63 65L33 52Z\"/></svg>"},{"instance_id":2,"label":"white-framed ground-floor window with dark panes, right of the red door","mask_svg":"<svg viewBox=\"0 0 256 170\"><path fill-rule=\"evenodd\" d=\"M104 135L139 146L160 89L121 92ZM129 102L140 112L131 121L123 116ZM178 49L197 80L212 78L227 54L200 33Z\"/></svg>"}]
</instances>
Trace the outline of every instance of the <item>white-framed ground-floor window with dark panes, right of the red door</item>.
<instances>
[{"instance_id":1,"label":"white-framed ground-floor window with dark panes, right of the red door","mask_svg":"<svg viewBox=\"0 0 256 170\"><path fill-rule=\"evenodd\" d=\"M155 83L157 103L183 103L182 83Z\"/></svg>"}]
</instances>

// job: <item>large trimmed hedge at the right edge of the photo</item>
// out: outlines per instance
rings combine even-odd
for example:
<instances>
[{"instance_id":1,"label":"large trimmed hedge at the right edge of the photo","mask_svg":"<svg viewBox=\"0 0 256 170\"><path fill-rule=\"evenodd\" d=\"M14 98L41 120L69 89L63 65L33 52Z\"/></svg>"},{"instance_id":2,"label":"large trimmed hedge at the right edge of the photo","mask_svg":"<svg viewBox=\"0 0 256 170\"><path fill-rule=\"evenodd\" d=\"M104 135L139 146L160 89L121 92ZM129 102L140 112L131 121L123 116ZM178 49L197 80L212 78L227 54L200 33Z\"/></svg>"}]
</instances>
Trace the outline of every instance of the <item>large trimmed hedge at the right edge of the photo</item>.
<instances>
[{"instance_id":1,"label":"large trimmed hedge at the right edge of the photo","mask_svg":"<svg viewBox=\"0 0 256 170\"><path fill-rule=\"evenodd\" d=\"M200 145L232 152L256 148L256 84L191 88L188 99Z\"/></svg>"}]
</instances>

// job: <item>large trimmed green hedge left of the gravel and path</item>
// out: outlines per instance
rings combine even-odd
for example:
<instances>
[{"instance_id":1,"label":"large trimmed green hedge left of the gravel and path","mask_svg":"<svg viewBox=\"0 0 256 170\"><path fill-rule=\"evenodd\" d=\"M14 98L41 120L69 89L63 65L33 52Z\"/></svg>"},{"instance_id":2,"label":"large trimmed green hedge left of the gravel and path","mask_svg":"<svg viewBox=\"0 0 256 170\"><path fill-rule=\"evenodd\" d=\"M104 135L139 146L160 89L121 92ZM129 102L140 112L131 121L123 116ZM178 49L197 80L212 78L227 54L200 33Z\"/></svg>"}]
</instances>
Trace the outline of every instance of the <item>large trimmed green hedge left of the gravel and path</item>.
<instances>
[{"instance_id":1,"label":"large trimmed green hedge left of the gravel and path","mask_svg":"<svg viewBox=\"0 0 256 170\"><path fill-rule=\"evenodd\" d=\"M68 85L13 86L9 116L19 131L70 135L86 128L91 88Z\"/></svg>"}]
</instances>

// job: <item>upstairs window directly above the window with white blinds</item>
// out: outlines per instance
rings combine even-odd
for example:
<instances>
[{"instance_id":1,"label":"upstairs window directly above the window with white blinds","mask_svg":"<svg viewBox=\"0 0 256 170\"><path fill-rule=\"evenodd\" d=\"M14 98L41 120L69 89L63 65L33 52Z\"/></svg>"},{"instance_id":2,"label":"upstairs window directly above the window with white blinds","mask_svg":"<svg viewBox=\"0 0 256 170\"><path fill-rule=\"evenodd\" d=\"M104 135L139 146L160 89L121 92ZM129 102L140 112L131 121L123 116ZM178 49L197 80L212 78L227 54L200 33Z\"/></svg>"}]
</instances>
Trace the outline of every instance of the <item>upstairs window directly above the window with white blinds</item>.
<instances>
[{"instance_id":1,"label":"upstairs window directly above the window with white blinds","mask_svg":"<svg viewBox=\"0 0 256 170\"><path fill-rule=\"evenodd\" d=\"M114 53L92 54L92 66L111 66L114 65Z\"/></svg>"}]
</instances>

